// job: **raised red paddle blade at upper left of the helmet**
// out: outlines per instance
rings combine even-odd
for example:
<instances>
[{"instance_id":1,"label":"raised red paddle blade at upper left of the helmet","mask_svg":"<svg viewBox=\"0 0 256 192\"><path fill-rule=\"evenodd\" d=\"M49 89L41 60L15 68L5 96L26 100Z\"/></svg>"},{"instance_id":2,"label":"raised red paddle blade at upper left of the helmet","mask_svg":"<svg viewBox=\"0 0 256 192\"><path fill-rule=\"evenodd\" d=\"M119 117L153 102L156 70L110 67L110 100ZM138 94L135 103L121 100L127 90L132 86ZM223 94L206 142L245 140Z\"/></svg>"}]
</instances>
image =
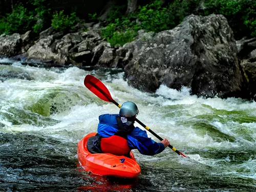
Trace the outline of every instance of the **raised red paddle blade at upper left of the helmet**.
<instances>
[{"instance_id":1,"label":"raised red paddle blade at upper left of the helmet","mask_svg":"<svg viewBox=\"0 0 256 192\"><path fill-rule=\"evenodd\" d=\"M84 78L83 83L84 83L84 86L86 86L91 92L93 92L100 99L107 102L113 101L108 88L106 88L105 85L96 77L92 75L87 75L86 78Z\"/></svg>"}]
</instances>

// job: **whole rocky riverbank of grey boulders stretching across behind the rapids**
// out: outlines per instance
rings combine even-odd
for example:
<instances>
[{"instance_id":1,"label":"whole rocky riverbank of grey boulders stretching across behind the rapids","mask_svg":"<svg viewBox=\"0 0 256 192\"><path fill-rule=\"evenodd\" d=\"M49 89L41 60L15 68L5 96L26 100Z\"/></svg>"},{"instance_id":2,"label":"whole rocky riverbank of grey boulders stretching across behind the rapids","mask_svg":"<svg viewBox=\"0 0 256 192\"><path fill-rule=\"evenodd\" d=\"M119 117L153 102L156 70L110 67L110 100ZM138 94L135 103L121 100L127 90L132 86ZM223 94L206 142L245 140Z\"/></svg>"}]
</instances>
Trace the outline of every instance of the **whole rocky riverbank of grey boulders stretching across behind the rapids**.
<instances>
[{"instance_id":1,"label":"whole rocky riverbank of grey boulders stretching across behind the rapids","mask_svg":"<svg viewBox=\"0 0 256 192\"><path fill-rule=\"evenodd\" d=\"M49 28L39 37L1 35L0 55L62 65L123 68L128 83L155 92L160 84L190 87L191 94L256 98L256 38L236 41L222 15L189 15L172 30L139 31L124 46L111 46L99 29L62 34Z\"/></svg>"}]
</instances>

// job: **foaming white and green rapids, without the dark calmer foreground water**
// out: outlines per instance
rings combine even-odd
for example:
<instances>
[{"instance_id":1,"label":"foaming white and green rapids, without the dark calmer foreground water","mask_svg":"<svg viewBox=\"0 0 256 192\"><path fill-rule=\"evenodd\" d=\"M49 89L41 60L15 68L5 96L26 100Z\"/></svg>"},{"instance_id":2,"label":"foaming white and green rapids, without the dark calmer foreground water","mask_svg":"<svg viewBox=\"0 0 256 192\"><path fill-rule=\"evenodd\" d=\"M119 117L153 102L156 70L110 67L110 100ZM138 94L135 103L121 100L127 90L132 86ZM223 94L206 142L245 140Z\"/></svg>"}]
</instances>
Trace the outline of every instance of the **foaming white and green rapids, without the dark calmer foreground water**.
<instances>
[{"instance_id":1,"label":"foaming white and green rapids, without the dark calmer foreground water","mask_svg":"<svg viewBox=\"0 0 256 192\"><path fill-rule=\"evenodd\" d=\"M119 109L116 105L97 98L83 86L84 77L92 74L102 80L118 103L135 102L140 111L138 119L162 138L169 139L173 146L188 156L179 157L169 148L153 157L143 156L135 151L138 162L152 163L153 166L162 168L210 167L209 175L231 175L256 180L254 101L238 98L198 98L190 95L189 88L184 87L177 91L164 85L160 86L156 94L149 94L129 87L123 80L123 73L112 75L110 72L88 72L76 67L43 69L14 63L12 66L0 65L1 70L24 73L33 80L8 78L0 81L0 125L5 125L0 126L0 132L47 135L72 143L77 143L90 132L96 132L98 116L118 113ZM49 116L59 121L55 124L13 124L3 115L13 115L9 111L11 107L31 113L30 107L39 99L47 98L50 93L55 93L51 102L54 101L58 107L58 112ZM49 109L49 106L45 108ZM41 117L43 116L38 116L38 121L42 121ZM247 117L251 119L244 120ZM206 123L207 126L201 129L200 123ZM136 125L140 127L139 124ZM207 130L207 127L211 129ZM225 137L218 134L224 134ZM158 141L150 133L148 136ZM230 141L229 137L234 140ZM226 155L218 157L218 151L225 151ZM234 154L241 151L248 151L251 155L247 154L241 162L232 163L239 161L239 155Z\"/></svg>"}]
</instances>

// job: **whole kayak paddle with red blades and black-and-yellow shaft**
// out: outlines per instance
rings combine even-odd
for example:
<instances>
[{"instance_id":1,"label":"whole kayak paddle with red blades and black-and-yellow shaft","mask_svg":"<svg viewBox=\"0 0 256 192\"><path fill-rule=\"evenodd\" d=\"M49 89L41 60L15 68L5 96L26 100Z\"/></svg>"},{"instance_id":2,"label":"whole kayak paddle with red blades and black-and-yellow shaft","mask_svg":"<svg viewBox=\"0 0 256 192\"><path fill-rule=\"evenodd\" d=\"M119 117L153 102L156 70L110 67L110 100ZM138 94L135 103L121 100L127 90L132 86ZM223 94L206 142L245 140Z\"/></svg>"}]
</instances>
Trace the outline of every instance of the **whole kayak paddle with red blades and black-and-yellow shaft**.
<instances>
[{"instance_id":1,"label":"whole kayak paddle with red blades and black-and-yellow shaft","mask_svg":"<svg viewBox=\"0 0 256 192\"><path fill-rule=\"evenodd\" d=\"M118 108L121 108L121 105L118 104L111 96L108 88L105 87L105 85L96 77L92 75L87 75L86 78L84 78L84 86L86 86L91 92L93 92L97 97L100 99L107 101L107 102L113 102L115 105L118 106ZM153 132L148 126L146 126L144 123L142 123L139 119L135 119L141 126L143 126L147 131L152 133L156 138L158 138L160 141L163 139L158 136L155 132ZM184 154L179 152L175 147L172 145L168 145L168 147L172 148L174 152L176 152L178 155L182 155L183 157L186 157Z\"/></svg>"}]
</instances>

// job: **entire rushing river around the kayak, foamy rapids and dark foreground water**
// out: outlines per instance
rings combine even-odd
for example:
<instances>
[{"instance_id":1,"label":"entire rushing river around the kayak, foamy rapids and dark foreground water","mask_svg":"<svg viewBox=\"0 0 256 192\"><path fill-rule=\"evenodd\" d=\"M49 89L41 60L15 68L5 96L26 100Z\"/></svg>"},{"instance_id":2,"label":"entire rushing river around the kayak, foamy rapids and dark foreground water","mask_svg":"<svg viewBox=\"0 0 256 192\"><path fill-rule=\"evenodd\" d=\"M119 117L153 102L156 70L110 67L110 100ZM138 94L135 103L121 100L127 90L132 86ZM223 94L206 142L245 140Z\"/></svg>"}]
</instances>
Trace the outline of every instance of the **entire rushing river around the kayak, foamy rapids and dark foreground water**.
<instances>
[{"instance_id":1,"label":"entire rushing river around the kayak, foamy rapids and dark foreground water","mask_svg":"<svg viewBox=\"0 0 256 192\"><path fill-rule=\"evenodd\" d=\"M170 148L156 156L135 150L136 180L84 172L78 141L97 131L99 115L119 112L83 86L87 74L118 103L135 102L138 119L188 157ZM256 102L197 97L164 85L144 93L123 75L0 64L0 191L256 191Z\"/></svg>"}]
</instances>

